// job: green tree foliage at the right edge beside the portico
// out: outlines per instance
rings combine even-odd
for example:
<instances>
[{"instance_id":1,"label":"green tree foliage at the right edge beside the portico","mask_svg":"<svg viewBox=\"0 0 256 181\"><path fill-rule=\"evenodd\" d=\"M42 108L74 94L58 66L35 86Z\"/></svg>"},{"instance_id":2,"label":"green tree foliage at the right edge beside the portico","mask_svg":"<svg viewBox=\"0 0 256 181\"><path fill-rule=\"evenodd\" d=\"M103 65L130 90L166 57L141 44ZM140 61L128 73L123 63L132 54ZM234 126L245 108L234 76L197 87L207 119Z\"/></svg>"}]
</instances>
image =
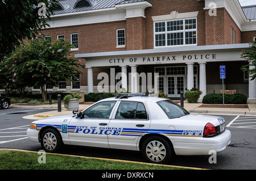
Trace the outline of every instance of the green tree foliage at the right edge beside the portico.
<instances>
[{"instance_id":1,"label":"green tree foliage at the right edge beside the portico","mask_svg":"<svg viewBox=\"0 0 256 181\"><path fill-rule=\"evenodd\" d=\"M251 65L245 65L242 67L243 71L246 71L251 77L251 80L254 80L256 78L256 41L253 41L250 45L251 50L244 50L241 54L242 58L245 58L247 61L251 61ZM250 66L254 66L253 69L250 69Z\"/></svg>"}]
</instances>

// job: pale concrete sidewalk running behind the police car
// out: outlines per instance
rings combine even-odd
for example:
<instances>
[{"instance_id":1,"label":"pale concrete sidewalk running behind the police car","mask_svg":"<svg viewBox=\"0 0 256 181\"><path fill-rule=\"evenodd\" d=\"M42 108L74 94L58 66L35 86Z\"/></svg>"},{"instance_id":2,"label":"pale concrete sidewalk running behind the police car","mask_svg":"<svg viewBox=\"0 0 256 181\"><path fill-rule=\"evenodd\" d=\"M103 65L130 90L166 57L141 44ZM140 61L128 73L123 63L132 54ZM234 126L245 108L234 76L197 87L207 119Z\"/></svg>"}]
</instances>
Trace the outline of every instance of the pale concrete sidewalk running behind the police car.
<instances>
[{"instance_id":1,"label":"pale concrete sidewalk running behind the police car","mask_svg":"<svg viewBox=\"0 0 256 181\"><path fill-rule=\"evenodd\" d=\"M91 104L93 104L93 102L85 102L79 104L79 111L84 110ZM57 111L57 104L11 104L10 108L54 109L52 111L42 112L36 115L29 115L23 117L24 119L31 120L38 120L44 117L51 117L56 115L72 114L72 111L65 110L64 104L61 104L61 112ZM184 108L185 110L191 113L256 116L255 104L225 104L225 107L223 108L223 104L184 103Z\"/></svg>"}]
</instances>

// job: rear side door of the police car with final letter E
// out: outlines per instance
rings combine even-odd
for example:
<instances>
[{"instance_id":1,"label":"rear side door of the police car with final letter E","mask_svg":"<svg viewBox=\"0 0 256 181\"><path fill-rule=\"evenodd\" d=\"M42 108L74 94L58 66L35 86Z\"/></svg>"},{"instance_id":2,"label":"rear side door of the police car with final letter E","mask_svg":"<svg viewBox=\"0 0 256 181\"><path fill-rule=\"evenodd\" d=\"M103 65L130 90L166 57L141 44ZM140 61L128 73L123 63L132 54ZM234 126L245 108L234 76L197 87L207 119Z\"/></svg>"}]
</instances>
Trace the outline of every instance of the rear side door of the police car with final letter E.
<instances>
[{"instance_id":1,"label":"rear side door of the police car with final letter E","mask_svg":"<svg viewBox=\"0 0 256 181\"><path fill-rule=\"evenodd\" d=\"M110 148L138 150L137 142L150 127L146 104L122 100L110 120L108 135Z\"/></svg>"}]
</instances>

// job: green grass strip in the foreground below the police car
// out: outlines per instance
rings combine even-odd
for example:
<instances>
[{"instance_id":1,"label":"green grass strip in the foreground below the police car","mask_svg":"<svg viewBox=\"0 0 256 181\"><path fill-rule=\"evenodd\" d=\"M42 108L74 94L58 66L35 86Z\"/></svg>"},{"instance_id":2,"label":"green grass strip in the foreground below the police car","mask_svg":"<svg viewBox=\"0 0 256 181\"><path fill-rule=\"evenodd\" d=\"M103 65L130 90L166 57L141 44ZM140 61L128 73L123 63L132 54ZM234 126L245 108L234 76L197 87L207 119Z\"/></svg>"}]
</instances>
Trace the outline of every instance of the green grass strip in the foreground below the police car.
<instances>
[{"instance_id":1,"label":"green grass strip in the foreground below the police car","mask_svg":"<svg viewBox=\"0 0 256 181\"><path fill-rule=\"evenodd\" d=\"M182 167L58 154L46 154L46 163L39 163L41 155L35 152L0 150L0 170L188 170Z\"/></svg>"}]
</instances>

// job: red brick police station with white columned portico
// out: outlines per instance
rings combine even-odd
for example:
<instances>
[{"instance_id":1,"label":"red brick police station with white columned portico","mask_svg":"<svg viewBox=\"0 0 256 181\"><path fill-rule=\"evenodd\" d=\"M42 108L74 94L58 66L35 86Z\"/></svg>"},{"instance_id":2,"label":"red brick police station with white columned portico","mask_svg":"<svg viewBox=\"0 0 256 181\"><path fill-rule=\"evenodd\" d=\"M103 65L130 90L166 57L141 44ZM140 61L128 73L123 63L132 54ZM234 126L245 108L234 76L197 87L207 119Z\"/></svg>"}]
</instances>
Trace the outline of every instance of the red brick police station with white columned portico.
<instances>
[{"instance_id":1,"label":"red brick police station with white columned portico","mask_svg":"<svg viewBox=\"0 0 256 181\"><path fill-rule=\"evenodd\" d=\"M86 69L76 83L51 88L86 94L114 92L118 85L148 93L154 91L152 82L171 98L197 87L202 99L222 89L220 65L225 65L224 89L256 103L256 80L241 70L248 64L242 50L256 39L255 11L237 0L59 1L51 27L42 33L52 41L70 39L72 55Z\"/></svg>"}]
</instances>

